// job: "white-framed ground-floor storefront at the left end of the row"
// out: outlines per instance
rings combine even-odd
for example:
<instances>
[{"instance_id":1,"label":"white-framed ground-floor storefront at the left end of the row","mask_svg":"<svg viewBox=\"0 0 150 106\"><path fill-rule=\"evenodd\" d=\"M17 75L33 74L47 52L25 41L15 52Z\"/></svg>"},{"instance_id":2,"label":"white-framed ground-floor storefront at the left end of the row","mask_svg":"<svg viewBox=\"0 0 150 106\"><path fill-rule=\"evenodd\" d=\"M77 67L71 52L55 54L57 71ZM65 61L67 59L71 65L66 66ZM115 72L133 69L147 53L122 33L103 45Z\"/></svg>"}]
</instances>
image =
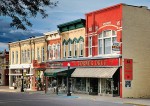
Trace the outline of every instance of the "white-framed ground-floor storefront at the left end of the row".
<instances>
[{"instance_id":1,"label":"white-framed ground-floor storefront at the left end of the row","mask_svg":"<svg viewBox=\"0 0 150 106\"><path fill-rule=\"evenodd\" d=\"M23 87L26 90L32 90L32 67L31 64L10 65L9 68L9 88L21 89L23 73Z\"/></svg>"}]
</instances>

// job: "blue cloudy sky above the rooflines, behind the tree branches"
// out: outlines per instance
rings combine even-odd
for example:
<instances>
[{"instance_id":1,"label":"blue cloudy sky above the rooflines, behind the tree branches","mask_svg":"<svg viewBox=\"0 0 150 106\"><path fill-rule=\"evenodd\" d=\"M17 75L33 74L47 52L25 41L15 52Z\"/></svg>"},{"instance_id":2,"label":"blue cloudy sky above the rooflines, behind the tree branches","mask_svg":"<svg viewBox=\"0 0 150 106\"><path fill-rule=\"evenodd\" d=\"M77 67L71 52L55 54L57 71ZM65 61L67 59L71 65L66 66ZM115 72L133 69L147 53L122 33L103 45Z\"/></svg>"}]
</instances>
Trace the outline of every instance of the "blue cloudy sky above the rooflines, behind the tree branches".
<instances>
[{"instance_id":1,"label":"blue cloudy sky above the rooflines, behind the tree branches","mask_svg":"<svg viewBox=\"0 0 150 106\"><path fill-rule=\"evenodd\" d=\"M56 1L56 0L52 0ZM48 17L42 19L40 15L29 19L33 24L27 31L17 30L9 26L9 17L0 16L0 51L8 50L8 42L27 39L31 36L42 36L43 33L58 30L57 25L85 19L85 14L119 3L150 8L150 0L58 0L58 6L46 8Z\"/></svg>"}]
</instances>

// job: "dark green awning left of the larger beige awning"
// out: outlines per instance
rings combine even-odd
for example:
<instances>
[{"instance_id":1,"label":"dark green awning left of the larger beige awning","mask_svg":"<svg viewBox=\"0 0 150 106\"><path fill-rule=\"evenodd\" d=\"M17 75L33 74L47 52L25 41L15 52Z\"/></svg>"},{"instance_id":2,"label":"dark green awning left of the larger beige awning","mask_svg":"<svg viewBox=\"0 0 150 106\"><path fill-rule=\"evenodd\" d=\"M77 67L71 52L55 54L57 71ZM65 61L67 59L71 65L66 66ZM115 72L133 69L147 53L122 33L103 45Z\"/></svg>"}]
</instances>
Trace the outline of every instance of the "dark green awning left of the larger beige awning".
<instances>
[{"instance_id":1,"label":"dark green awning left of the larger beige awning","mask_svg":"<svg viewBox=\"0 0 150 106\"><path fill-rule=\"evenodd\" d=\"M75 68L59 68L59 69L46 69L44 76L56 77L56 76L71 76Z\"/></svg>"}]
</instances>

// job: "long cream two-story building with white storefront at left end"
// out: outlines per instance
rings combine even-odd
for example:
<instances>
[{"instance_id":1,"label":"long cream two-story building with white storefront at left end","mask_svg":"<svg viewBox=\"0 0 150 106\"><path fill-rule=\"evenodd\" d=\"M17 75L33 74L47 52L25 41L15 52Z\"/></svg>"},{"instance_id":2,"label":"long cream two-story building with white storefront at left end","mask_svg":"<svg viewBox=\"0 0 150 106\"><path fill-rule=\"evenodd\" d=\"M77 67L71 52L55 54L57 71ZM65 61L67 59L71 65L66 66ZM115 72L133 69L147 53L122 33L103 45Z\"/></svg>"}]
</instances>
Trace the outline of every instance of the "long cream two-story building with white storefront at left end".
<instances>
[{"instance_id":1,"label":"long cream two-story building with white storefront at left end","mask_svg":"<svg viewBox=\"0 0 150 106\"><path fill-rule=\"evenodd\" d=\"M33 60L38 63L47 60L47 43L45 36L31 37L26 40L9 43L9 87L10 89L21 86L22 71L24 75L24 84L27 89L37 87L37 77L42 78L43 70L33 67Z\"/></svg>"}]
</instances>

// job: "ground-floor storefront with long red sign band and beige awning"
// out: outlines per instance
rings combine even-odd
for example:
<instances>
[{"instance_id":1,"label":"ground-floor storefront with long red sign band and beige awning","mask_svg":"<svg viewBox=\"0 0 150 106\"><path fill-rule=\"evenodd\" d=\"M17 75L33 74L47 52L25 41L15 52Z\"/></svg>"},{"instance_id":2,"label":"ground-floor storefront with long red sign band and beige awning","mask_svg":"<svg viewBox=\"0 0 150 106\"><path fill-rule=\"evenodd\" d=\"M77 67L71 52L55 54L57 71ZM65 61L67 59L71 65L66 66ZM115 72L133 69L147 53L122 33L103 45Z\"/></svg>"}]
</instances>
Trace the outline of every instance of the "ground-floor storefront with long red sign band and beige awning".
<instances>
[{"instance_id":1,"label":"ground-floor storefront with long red sign band and beige awning","mask_svg":"<svg viewBox=\"0 0 150 106\"><path fill-rule=\"evenodd\" d=\"M47 69L45 76L48 76L49 73L49 76L57 78L60 82L64 82L65 77L60 77L59 75L65 75L63 72L65 72L65 69L67 70L68 63L71 69L75 69L71 72L72 92L87 93L90 95L119 95L120 57L51 61L48 62L48 66L57 66L59 69ZM55 75L58 77L55 77Z\"/></svg>"}]
</instances>

